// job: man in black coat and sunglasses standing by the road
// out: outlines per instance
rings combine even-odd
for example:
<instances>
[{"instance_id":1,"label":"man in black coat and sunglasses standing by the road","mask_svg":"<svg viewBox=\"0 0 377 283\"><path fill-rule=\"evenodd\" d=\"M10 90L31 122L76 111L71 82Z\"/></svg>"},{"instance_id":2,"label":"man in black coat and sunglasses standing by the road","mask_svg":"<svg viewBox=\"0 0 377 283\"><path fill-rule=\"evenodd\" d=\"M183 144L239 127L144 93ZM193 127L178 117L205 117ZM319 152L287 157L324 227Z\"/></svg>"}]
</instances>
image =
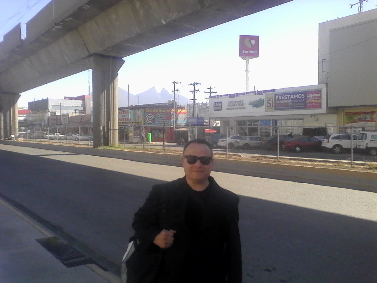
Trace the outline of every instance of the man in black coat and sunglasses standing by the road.
<instances>
[{"instance_id":1,"label":"man in black coat and sunglasses standing by the road","mask_svg":"<svg viewBox=\"0 0 377 283\"><path fill-rule=\"evenodd\" d=\"M147 258L160 256L151 282L242 282L239 197L210 176L212 156L207 141L189 141L185 176L153 186L135 214L132 228Z\"/></svg>"}]
</instances>

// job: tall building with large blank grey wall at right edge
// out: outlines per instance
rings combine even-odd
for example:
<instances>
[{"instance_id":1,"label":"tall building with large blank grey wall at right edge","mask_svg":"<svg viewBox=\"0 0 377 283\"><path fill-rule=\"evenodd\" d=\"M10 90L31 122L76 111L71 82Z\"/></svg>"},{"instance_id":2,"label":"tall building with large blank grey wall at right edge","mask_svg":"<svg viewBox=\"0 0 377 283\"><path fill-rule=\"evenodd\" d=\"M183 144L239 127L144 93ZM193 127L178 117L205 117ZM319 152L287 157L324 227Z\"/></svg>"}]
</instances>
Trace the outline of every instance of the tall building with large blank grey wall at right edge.
<instances>
[{"instance_id":1,"label":"tall building with large blank grey wall at right edge","mask_svg":"<svg viewBox=\"0 0 377 283\"><path fill-rule=\"evenodd\" d=\"M377 9L319 24L318 82L328 84L335 125L377 126L376 46Z\"/></svg>"}]
</instances>

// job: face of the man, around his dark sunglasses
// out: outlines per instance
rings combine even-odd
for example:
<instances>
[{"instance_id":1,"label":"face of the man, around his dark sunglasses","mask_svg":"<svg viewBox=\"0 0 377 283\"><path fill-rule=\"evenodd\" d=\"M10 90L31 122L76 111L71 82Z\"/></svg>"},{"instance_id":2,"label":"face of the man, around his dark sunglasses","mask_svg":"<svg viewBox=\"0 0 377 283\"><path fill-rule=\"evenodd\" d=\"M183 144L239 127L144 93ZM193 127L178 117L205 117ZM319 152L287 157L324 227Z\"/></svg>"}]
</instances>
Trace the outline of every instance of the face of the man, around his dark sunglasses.
<instances>
[{"instance_id":1,"label":"face of the man, around his dark sunglasses","mask_svg":"<svg viewBox=\"0 0 377 283\"><path fill-rule=\"evenodd\" d=\"M206 145L192 143L183 152L183 156L194 155L197 157L207 156L212 157L211 150ZM202 165L200 160L196 161L195 164L189 164L186 158L182 158L183 169L185 171L186 179L191 180L195 183L201 183L208 179L211 174L213 160L210 164Z\"/></svg>"}]
</instances>

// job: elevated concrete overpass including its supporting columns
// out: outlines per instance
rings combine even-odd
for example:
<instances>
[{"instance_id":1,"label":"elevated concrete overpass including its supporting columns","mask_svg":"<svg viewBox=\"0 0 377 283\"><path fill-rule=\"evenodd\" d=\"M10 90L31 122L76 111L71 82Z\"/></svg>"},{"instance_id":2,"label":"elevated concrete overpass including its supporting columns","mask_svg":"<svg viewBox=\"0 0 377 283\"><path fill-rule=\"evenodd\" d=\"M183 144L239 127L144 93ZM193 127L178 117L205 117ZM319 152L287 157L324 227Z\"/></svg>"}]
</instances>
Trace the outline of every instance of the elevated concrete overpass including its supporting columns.
<instances>
[{"instance_id":1,"label":"elevated concrete overpass including its supporting columns","mask_svg":"<svg viewBox=\"0 0 377 283\"><path fill-rule=\"evenodd\" d=\"M19 94L93 70L93 146L118 142L123 57L291 0L55 0L0 42L0 131L17 134Z\"/></svg>"}]
</instances>

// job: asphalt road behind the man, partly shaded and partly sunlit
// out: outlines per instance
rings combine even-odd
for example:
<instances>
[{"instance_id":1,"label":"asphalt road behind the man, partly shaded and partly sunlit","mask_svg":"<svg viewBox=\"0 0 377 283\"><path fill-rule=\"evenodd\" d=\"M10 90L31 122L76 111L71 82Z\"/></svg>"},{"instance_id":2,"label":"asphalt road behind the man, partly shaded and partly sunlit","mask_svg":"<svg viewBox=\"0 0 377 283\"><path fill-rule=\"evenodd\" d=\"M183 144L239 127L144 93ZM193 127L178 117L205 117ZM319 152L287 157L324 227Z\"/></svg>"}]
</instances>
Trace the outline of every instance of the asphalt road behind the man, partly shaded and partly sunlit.
<instances>
[{"instance_id":1,"label":"asphalt road behind the man, partly shaded and partly sunlit","mask_svg":"<svg viewBox=\"0 0 377 283\"><path fill-rule=\"evenodd\" d=\"M178 167L10 145L0 145L0 160L2 198L112 271L152 185L183 175ZM377 194L212 175L241 197L244 282L377 282Z\"/></svg>"}]
</instances>

